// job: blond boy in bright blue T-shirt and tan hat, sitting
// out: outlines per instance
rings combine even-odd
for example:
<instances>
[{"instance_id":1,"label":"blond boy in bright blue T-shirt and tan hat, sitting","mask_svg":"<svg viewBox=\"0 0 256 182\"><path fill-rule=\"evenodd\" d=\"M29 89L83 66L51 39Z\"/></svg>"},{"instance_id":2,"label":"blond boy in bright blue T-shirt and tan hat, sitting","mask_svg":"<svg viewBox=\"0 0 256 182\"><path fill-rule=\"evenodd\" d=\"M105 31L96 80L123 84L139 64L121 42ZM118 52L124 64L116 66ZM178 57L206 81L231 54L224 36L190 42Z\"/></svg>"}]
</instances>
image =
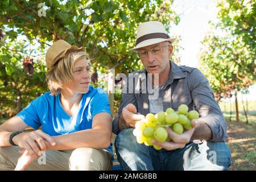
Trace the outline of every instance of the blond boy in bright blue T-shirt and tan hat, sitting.
<instances>
[{"instance_id":1,"label":"blond boy in bright blue T-shirt and tan hat, sitting","mask_svg":"<svg viewBox=\"0 0 256 182\"><path fill-rule=\"evenodd\" d=\"M109 100L104 90L89 85L85 48L58 40L48 49L46 64L50 92L0 126L0 169L112 169ZM36 131L22 133L27 126ZM45 163L38 163L42 151Z\"/></svg>"}]
</instances>

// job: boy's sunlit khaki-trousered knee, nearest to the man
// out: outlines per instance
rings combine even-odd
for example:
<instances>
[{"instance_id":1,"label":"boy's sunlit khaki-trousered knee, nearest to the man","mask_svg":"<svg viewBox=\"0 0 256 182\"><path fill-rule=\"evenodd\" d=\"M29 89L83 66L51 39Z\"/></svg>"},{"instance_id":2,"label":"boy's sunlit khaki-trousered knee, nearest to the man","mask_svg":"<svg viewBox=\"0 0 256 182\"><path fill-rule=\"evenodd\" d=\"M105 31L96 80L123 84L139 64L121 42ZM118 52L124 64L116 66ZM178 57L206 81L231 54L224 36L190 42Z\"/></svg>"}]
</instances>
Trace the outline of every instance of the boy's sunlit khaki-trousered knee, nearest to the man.
<instances>
[{"instance_id":1,"label":"boy's sunlit khaki-trousered knee, nearest to the man","mask_svg":"<svg viewBox=\"0 0 256 182\"><path fill-rule=\"evenodd\" d=\"M108 152L95 148L76 148L69 158L69 169L72 171L110 170L112 159L109 155Z\"/></svg>"}]
</instances>

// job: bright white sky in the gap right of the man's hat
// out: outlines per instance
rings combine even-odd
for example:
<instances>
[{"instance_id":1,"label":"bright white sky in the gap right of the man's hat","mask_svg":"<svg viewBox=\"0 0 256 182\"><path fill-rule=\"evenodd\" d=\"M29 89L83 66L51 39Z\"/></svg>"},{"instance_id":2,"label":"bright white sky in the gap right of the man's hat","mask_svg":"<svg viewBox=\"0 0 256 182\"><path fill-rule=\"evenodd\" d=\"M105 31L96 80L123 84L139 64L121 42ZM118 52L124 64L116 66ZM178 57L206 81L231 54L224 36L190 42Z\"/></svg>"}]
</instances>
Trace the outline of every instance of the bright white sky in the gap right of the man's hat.
<instances>
[{"instance_id":1,"label":"bright white sky in the gap right of the man's hat","mask_svg":"<svg viewBox=\"0 0 256 182\"><path fill-rule=\"evenodd\" d=\"M180 15L180 22L171 24L170 35L180 35L181 65L198 67L201 41L209 30L209 20L216 22L218 9L216 0L174 0L173 6ZM250 94L244 95L249 101L256 101L256 85L250 86ZM234 100L234 97L232 98ZM241 100L241 93L238 93Z\"/></svg>"}]
</instances>

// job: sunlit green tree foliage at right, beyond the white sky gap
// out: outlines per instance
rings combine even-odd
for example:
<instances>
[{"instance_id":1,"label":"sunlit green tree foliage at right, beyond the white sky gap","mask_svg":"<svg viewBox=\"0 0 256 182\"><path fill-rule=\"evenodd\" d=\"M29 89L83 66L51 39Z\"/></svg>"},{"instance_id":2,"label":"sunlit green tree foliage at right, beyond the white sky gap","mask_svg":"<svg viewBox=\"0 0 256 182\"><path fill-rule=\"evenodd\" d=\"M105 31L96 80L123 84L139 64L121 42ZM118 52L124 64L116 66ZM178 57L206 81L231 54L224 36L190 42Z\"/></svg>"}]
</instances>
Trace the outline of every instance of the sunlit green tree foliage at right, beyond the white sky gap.
<instances>
[{"instance_id":1,"label":"sunlit green tree foliage at right, beyond the white sky gap","mask_svg":"<svg viewBox=\"0 0 256 182\"><path fill-rule=\"evenodd\" d=\"M217 100L231 97L233 90L246 90L254 84L256 75L255 31L251 31L255 28L251 13L255 12L255 1L223 0L218 6L220 22L212 24L212 31L205 36L200 53L200 67ZM254 9L246 9L249 6ZM238 15L240 22L247 22L247 28L238 26Z\"/></svg>"}]
</instances>

